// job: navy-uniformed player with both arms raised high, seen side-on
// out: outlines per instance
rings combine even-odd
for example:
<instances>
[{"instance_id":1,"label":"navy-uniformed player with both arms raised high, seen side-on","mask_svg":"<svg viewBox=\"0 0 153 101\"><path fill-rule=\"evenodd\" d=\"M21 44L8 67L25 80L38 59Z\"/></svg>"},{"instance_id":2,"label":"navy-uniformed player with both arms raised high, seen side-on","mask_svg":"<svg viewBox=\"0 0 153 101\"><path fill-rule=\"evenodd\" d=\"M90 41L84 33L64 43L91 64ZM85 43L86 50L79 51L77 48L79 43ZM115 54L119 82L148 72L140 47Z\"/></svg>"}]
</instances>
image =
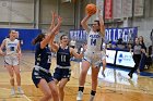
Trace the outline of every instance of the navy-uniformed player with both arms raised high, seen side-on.
<instances>
[{"instance_id":1,"label":"navy-uniformed player with both arms raised high, seen side-on","mask_svg":"<svg viewBox=\"0 0 153 101\"><path fill-rule=\"evenodd\" d=\"M59 30L61 25L61 17L58 17L58 24L55 26L56 14L52 13L52 22L48 35L40 34L34 40L36 45L35 50L35 66L32 73L32 79L37 88L44 93L40 101L49 101L51 98L54 101L59 101L57 86L49 72L51 64L51 49L48 43L52 39L52 35Z\"/></svg>"}]
</instances>

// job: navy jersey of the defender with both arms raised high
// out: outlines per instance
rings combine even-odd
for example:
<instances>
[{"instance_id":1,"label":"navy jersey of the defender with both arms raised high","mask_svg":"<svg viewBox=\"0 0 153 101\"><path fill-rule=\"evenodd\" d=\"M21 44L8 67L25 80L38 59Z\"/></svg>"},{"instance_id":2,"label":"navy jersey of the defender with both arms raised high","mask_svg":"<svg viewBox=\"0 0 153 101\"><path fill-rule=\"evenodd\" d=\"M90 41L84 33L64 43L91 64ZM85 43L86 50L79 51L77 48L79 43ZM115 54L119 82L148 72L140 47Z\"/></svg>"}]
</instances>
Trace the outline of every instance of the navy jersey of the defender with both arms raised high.
<instances>
[{"instance_id":1,"label":"navy jersey of the defender with both arms raised high","mask_svg":"<svg viewBox=\"0 0 153 101\"><path fill-rule=\"evenodd\" d=\"M35 65L49 70L51 64L51 51L47 47L40 49L40 43L36 45Z\"/></svg>"}]
</instances>

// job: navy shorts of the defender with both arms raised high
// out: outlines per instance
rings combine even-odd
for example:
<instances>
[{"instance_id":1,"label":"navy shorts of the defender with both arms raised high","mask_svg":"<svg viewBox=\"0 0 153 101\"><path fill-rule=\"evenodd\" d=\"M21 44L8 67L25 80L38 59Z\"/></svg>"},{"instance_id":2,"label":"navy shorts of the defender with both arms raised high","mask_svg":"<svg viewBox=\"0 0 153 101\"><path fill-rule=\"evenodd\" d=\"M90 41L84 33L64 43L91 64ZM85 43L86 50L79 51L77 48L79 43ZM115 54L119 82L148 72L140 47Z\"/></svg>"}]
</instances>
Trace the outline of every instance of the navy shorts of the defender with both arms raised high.
<instances>
[{"instance_id":1,"label":"navy shorts of the defender with both arms raised high","mask_svg":"<svg viewBox=\"0 0 153 101\"><path fill-rule=\"evenodd\" d=\"M52 76L50 73L45 73L43 71L36 71L35 68L33 70L32 73L32 79L33 83L35 84L35 86L38 88L38 84L40 81L40 79L44 78L47 83L50 83L54 80Z\"/></svg>"}]
</instances>

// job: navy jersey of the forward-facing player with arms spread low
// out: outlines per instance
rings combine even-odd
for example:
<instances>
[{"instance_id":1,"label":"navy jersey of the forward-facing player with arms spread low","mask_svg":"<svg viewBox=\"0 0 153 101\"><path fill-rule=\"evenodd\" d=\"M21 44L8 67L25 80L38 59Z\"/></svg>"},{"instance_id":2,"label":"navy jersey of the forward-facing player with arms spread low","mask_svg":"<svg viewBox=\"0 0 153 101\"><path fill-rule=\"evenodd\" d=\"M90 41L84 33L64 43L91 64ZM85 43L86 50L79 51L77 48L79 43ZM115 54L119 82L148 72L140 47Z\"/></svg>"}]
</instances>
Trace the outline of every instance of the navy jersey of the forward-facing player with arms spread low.
<instances>
[{"instance_id":1,"label":"navy jersey of the forward-facing player with arms spread low","mask_svg":"<svg viewBox=\"0 0 153 101\"><path fill-rule=\"evenodd\" d=\"M67 49L61 49L61 47L59 47L59 50L57 51L57 65L70 66L70 58L69 47Z\"/></svg>"}]
</instances>

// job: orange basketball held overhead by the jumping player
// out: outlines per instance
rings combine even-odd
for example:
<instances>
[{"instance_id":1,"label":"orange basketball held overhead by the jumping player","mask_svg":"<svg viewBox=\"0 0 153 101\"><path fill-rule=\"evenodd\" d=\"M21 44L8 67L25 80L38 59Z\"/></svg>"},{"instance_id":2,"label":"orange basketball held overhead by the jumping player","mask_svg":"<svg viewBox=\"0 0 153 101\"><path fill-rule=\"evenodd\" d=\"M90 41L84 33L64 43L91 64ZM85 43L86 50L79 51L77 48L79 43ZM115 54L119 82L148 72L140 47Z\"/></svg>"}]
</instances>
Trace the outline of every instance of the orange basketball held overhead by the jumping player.
<instances>
[{"instance_id":1,"label":"orange basketball held overhead by the jumping player","mask_svg":"<svg viewBox=\"0 0 153 101\"><path fill-rule=\"evenodd\" d=\"M96 5L93 3L90 3L86 5L85 11L89 15L93 15L96 13Z\"/></svg>"}]
</instances>

